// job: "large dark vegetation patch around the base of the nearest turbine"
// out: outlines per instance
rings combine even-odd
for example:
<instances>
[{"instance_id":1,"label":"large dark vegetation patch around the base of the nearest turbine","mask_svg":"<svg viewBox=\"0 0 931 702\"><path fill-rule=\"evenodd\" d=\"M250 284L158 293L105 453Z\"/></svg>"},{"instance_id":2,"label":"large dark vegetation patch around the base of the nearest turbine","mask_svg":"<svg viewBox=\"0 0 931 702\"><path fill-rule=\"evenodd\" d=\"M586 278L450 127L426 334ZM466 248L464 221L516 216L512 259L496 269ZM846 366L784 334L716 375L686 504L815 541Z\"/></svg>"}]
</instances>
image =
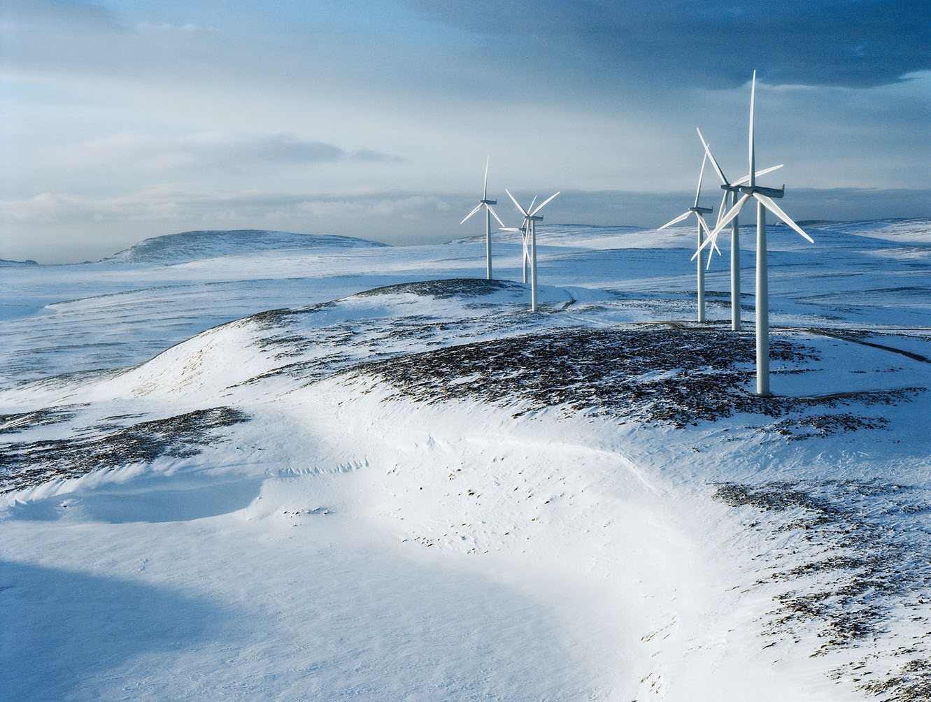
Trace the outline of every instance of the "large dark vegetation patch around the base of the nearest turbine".
<instances>
[{"instance_id":1,"label":"large dark vegetation patch around the base of the nearest turbine","mask_svg":"<svg viewBox=\"0 0 931 702\"><path fill-rule=\"evenodd\" d=\"M773 339L770 358L804 365L816 349ZM514 416L548 407L567 414L615 416L677 427L713 422L737 412L785 419L785 436L823 437L884 426L879 419L810 414L813 407L861 402L890 404L907 392L827 398L759 398L753 395L755 345L749 332L651 325L635 329L572 329L449 346L359 366L348 377L374 376L392 397L426 403L479 399L518 405Z\"/></svg>"}]
</instances>

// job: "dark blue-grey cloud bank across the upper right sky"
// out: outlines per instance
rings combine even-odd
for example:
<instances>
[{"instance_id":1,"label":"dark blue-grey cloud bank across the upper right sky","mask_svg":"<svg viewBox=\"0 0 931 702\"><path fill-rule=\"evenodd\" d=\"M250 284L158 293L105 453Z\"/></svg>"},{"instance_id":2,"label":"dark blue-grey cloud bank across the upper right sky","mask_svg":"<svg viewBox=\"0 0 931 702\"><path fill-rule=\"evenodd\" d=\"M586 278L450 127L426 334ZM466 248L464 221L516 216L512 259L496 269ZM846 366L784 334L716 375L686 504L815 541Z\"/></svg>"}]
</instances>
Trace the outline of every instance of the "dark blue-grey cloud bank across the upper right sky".
<instances>
[{"instance_id":1,"label":"dark blue-grey cloud bank across the upper right sky","mask_svg":"<svg viewBox=\"0 0 931 702\"><path fill-rule=\"evenodd\" d=\"M605 80L707 88L747 81L869 88L931 69L924 0L407 0L425 17L476 34L522 35L581 60Z\"/></svg>"}]
</instances>

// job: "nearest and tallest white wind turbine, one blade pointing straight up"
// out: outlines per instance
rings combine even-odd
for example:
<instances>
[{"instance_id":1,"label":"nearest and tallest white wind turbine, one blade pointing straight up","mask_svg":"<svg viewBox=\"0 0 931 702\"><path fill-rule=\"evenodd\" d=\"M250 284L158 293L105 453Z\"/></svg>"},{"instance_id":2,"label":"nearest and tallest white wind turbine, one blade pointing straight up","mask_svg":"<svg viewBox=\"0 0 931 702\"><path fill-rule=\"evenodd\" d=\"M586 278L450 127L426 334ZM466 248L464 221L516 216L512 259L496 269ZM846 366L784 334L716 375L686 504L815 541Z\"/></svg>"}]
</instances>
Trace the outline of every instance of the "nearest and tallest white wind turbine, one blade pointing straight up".
<instances>
[{"instance_id":1,"label":"nearest and tallest white wind turbine, one blade pointing straight up","mask_svg":"<svg viewBox=\"0 0 931 702\"><path fill-rule=\"evenodd\" d=\"M757 206L757 270L756 270L756 346L757 346L757 395L769 397L769 276L766 271L766 210L768 209L784 223L802 235L811 243L815 240L805 234L798 224L792 222L788 214L782 211L775 202L774 197L785 195L786 186L781 188L764 188L756 184L756 151L753 144L753 107L756 101L756 71L753 72L753 82L750 88L750 127L749 127L749 169L747 185L736 186L741 194L734 206L728 210L721 221L715 226L708 241L713 241L724 225L731 222L737 213L749 202L752 197ZM726 195L726 194L725 194ZM707 241L702 246L707 245ZM699 248L700 250L700 248Z\"/></svg>"}]
</instances>

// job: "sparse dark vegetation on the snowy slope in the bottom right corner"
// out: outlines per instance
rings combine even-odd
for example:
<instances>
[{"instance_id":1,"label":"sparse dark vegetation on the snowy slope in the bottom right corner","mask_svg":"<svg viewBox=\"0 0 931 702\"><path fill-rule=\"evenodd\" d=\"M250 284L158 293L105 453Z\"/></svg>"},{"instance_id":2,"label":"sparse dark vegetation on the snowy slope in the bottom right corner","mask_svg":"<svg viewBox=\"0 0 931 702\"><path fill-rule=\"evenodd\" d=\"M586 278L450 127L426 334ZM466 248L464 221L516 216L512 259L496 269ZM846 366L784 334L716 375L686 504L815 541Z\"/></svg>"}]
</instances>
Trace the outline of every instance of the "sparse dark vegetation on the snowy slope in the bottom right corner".
<instances>
[{"instance_id":1,"label":"sparse dark vegetation on the snowy slope in the bottom right corner","mask_svg":"<svg viewBox=\"0 0 931 702\"><path fill-rule=\"evenodd\" d=\"M768 527L774 546L765 559L776 567L757 585L783 589L766 635L798 642L802 628L814 627L822 642L813 656L869 647L890 636L904 608L920 636L893 652L907 659L901 668L887 669L888 658L870 655L833 677L849 678L871 695L931 699L931 490L881 480L727 482L714 497L757 510L747 528Z\"/></svg>"}]
</instances>

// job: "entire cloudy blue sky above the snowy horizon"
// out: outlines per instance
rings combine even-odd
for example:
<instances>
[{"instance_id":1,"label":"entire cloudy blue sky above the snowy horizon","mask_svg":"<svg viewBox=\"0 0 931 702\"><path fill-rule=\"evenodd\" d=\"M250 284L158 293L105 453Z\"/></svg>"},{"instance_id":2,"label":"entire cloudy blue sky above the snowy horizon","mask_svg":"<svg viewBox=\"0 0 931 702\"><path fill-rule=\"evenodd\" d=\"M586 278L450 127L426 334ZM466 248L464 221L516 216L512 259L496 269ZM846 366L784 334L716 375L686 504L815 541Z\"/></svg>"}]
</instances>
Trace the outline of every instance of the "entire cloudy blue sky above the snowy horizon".
<instances>
[{"instance_id":1,"label":"entire cloudy blue sky above the snowy horizon","mask_svg":"<svg viewBox=\"0 0 931 702\"><path fill-rule=\"evenodd\" d=\"M479 234L486 157L509 225L505 187L561 191L549 222L657 226L692 204L696 127L746 175L754 70L789 215L931 216L926 0L4 0L0 258Z\"/></svg>"}]
</instances>

